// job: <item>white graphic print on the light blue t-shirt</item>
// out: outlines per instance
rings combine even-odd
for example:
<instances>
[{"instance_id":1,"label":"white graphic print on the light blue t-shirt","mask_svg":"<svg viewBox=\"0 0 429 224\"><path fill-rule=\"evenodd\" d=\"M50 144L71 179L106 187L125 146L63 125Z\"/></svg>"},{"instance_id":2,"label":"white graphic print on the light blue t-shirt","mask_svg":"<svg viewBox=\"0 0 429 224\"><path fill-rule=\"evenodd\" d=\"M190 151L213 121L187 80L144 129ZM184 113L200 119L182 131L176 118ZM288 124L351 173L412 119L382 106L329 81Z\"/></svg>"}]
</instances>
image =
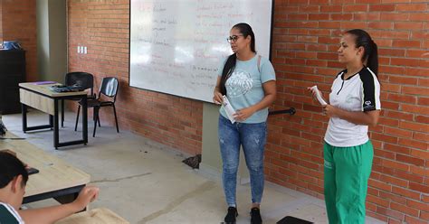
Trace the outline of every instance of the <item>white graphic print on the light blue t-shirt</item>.
<instances>
[{"instance_id":1,"label":"white graphic print on the light blue t-shirt","mask_svg":"<svg viewBox=\"0 0 429 224\"><path fill-rule=\"evenodd\" d=\"M245 95L253 87L251 74L245 70L236 69L225 83L228 97L238 98Z\"/></svg>"}]
</instances>

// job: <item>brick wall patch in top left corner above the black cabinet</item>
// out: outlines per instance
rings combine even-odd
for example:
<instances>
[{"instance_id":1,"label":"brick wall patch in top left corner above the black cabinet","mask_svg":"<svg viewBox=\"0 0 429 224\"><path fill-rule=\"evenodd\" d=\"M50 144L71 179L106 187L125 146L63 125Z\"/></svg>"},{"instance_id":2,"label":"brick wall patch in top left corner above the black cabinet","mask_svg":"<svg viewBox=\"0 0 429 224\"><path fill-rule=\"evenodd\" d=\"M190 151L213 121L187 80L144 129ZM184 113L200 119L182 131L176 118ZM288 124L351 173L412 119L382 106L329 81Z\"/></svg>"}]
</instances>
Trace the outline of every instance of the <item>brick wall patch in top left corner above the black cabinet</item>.
<instances>
[{"instance_id":1,"label":"brick wall patch in top left corner above the black cabinet","mask_svg":"<svg viewBox=\"0 0 429 224\"><path fill-rule=\"evenodd\" d=\"M35 1L3 0L2 8L3 40L21 43L26 51L26 79L29 81L37 80Z\"/></svg>"}]
</instances>

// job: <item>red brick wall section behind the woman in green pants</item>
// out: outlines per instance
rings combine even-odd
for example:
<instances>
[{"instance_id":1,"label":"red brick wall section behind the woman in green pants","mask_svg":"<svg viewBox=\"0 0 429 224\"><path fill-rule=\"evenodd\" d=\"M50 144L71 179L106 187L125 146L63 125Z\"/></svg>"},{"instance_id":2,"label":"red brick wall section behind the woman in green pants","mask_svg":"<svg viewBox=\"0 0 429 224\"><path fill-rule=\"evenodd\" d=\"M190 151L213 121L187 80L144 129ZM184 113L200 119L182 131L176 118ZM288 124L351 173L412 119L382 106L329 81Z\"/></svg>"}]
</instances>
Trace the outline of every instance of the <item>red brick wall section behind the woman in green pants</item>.
<instances>
[{"instance_id":1,"label":"red brick wall section behind the woman in green pants","mask_svg":"<svg viewBox=\"0 0 429 224\"><path fill-rule=\"evenodd\" d=\"M322 198L328 118L306 87L317 84L328 96L342 69L338 33L361 28L379 47L383 108L379 125L370 128L375 159L368 214L390 223L429 221L429 3L409 2L276 1L275 107L295 107L297 113L270 118L265 154L269 181Z\"/></svg>"}]
</instances>

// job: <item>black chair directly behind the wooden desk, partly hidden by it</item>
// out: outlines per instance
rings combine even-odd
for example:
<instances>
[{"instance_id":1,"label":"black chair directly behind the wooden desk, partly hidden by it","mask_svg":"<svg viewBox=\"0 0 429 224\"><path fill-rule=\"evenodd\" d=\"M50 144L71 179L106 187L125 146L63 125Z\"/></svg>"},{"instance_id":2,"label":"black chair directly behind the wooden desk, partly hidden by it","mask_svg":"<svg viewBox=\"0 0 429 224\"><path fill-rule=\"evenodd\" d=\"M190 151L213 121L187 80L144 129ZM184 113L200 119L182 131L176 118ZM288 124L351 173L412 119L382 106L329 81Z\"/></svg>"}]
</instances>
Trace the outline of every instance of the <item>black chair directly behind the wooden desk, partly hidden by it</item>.
<instances>
[{"instance_id":1,"label":"black chair directly behind the wooden desk, partly hidden by it","mask_svg":"<svg viewBox=\"0 0 429 224\"><path fill-rule=\"evenodd\" d=\"M75 71L75 72L69 72L65 74L65 80L64 85L70 87L70 86L78 86L79 89L85 90L90 89L90 95L88 95L88 98L95 98L94 96L94 76L91 73L83 72L83 71ZM81 100L81 98L71 98L70 100ZM61 126L64 126L64 100L62 100L62 122ZM80 107L79 107L80 110ZM78 111L79 113L79 111Z\"/></svg>"}]
</instances>

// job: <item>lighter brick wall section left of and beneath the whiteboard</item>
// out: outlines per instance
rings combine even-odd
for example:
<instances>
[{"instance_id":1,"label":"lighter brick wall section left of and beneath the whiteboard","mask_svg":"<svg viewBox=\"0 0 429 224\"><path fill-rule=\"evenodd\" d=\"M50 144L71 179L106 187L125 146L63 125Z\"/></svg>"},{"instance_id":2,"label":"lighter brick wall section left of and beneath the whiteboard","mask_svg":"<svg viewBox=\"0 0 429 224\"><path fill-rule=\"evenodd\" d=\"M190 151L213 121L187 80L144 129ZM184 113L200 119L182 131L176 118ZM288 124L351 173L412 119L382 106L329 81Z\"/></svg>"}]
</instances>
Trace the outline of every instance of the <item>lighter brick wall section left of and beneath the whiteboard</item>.
<instances>
[{"instance_id":1,"label":"lighter brick wall section left of and beneath the whiteboard","mask_svg":"<svg viewBox=\"0 0 429 224\"><path fill-rule=\"evenodd\" d=\"M69 70L119 78L119 129L129 129L188 154L201 153L203 104L129 87L129 0L68 1ZM78 54L87 46L88 54ZM101 119L109 117L101 109Z\"/></svg>"}]
</instances>

